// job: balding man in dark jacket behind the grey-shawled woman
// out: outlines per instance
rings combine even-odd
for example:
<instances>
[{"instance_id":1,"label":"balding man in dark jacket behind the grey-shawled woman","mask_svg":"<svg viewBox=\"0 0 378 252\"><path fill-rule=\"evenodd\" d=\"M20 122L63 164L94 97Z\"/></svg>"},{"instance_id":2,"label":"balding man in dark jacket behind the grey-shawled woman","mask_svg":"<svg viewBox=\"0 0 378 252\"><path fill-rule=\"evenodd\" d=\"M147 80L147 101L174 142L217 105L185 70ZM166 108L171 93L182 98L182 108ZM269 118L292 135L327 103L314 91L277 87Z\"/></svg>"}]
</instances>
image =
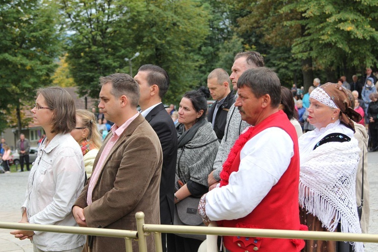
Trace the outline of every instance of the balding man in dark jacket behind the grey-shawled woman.
<instances>
[{"instance_id":1,"label":"balding man in dark jacket behind the grey-shawled woman","mask_svg":"<svg viewBox=\"0 0 378 252\"><path fill-rule=\"evenodd\" d=\"M221 68L213 70L207 78L207 87L215 102L209 108L208 121L213 124L213 129L219 142L224 136L227 112L235 102L235 95L230 90L230 78L227 72Z\"/></svg>"}]
</instances>

